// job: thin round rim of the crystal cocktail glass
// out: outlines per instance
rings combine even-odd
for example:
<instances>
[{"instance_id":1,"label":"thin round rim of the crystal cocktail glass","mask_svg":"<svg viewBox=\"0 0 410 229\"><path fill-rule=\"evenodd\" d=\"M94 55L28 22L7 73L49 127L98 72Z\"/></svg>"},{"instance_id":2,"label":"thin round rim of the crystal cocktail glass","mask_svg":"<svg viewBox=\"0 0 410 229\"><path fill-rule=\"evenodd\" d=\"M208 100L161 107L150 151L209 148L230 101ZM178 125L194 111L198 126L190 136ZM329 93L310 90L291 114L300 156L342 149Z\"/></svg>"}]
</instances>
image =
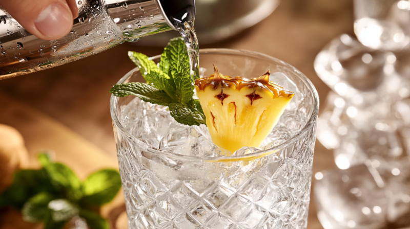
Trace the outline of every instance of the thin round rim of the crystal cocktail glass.
<instances>
[{"instance_id":1,"label":"thin round rim of the crystal cocktail glass","mask_svg":"<svg viewBox=\"0 0 410 229\"><path fill-rule=\"evenodd\" d=\"M265 149L265 150L261 150L255 153L250 153L250 154L245 154L245 155L240 155L240 156L218 156L218 157L201 157L201 156L190 156L190 155L181 155L181 154L176 154L176 153L171 153L171 152L167 152L167 151L163 151L157 148L154 148L150 145L148 145L145 142L142 142L138 139L136 139L134 137L134 135L132 135L131 133L129 133L124 126L122 126L122 124L119 122L118 117L117 117L117 113L116 113L116 105L118 102L118 99L120 97L116 97L114 95L111 95L111 99L110 99L110 113L111 113L111 119L113 122L113 125L116 126L116 128L119 128L121 130L121 132L123 132L128 139L131 139L135 142L138 142L139 144L145 145L147 148L151 148L155 151L158 151L161 155L166 155L168 157L174 157L174 158L182 158L185 161L201 161L201 162L234 162L234 161L249 161L250 159L256 159L265 155L268 155L270 153L276 152L280 149L286 148L289 145L295 143L296 141L300 140L302 138L302 136L305 134L306 131L308 131L309 129L313 128L313 125L315 125L315 121L317 119L318 116L318 112L319 112L319 95L317 93L317 90L315 88L315 86L313 85L313 83L309 80L308 77L306 77L302 72L300 72L299 70L297 70L297 68L295 68L294 66L279 60L277 58L271 57L269 55L263 54L263 53L258 53L258 52L253 52L253 51L248 51L248 50L235 50L235 49L199 49L199 54L236 54L236 55L243 55L243 56L253 56L253 57L259 57L259 58L263 58L263 59L268 59L274 62L279 62L280 64L282 64L285 67L290 68L297 77L300 78L300 80L305 83L306 86L308 86L309 90L312 93L312 97L313 97L313 111L311 114L311 117L309 118L308 122L306 122L306 125L299 130L294 136L292 136L292 138L290 138L289 140L284 141L283 143L272 147L270 149ZM150 57L150 60L154 60L154 59L158 59L160 58L161 55L156 55L153 57ZM133 68L131 71L129 71L125 76L123 76L118 82L119 83L124 83L127 79L130 78L131 74L139 71L138 67Z\"/></svg>"}]
</instances>

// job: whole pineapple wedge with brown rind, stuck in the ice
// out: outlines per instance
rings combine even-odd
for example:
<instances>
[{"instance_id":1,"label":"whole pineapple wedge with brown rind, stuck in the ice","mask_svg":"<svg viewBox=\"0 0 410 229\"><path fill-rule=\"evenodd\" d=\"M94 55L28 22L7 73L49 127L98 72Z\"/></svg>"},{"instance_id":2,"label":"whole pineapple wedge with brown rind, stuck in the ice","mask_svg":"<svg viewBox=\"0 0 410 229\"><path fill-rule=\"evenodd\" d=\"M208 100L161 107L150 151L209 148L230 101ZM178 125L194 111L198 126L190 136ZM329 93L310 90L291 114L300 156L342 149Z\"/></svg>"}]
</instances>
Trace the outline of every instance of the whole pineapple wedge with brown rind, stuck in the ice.
<instances>
[{"instance_id":1,"label":"whole pineapple wedge with brown rind, stuck in the ice","mask_svg":"<svg viewBox=\"0 0 410 229\"><path fill-rule=\"evenodd\" d=\"M214 71L195 81L212 141L232 153L259 147L295 93L270 82L269 71L253 79L223 76L215 65Z\"/></svg>"}]
</instances>

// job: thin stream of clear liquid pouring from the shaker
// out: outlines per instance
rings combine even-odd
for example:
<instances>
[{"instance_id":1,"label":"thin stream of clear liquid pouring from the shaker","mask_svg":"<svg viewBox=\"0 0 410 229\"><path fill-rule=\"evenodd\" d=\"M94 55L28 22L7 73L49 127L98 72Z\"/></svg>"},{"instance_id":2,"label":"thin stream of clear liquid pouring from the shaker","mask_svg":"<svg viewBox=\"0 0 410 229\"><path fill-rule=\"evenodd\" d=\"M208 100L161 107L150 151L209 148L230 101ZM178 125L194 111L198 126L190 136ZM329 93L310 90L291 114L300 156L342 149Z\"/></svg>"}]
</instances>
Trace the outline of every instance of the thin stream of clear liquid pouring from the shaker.
<instances>
[{"instance_id":1,"label":"thin stream of clear liquid pouring from the shaker","mask_svg":"<svg viewBox=\"0 0 410 229\"><path fill-rule=\"evenodd\" d=\"M176 28L185 40L189 55L189 65L192 83L199 78L199 44L196 37L194 22L186 21L176 24Z\"/></svg>"}]
</instances>

